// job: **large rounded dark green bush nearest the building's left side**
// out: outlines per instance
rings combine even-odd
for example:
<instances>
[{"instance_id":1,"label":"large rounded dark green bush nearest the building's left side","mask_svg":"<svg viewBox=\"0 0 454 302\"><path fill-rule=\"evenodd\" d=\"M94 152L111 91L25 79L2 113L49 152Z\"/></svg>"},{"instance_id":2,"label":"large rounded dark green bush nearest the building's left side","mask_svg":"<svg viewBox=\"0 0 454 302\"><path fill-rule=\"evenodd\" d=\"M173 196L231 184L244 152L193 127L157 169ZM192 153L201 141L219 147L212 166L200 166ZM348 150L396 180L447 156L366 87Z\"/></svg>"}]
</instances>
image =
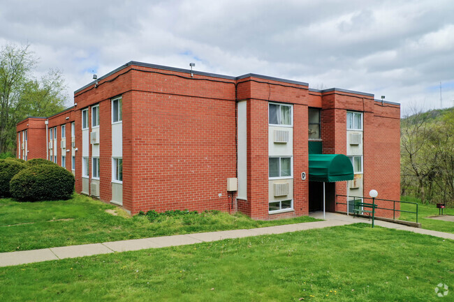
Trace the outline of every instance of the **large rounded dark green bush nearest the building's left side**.
<instances>
[{"instance_id":1,"label":"large rounded dark green bush nearest the building's left side","mask_svg":"<svg viewBox=\"0 0 454 302\"><path fill-rule=\"evenodd\" d=\"M74 176L58 165L34 165L17 173L10 181L11 195L20 201L69 199Z\"/></svg>"}]
</instances>

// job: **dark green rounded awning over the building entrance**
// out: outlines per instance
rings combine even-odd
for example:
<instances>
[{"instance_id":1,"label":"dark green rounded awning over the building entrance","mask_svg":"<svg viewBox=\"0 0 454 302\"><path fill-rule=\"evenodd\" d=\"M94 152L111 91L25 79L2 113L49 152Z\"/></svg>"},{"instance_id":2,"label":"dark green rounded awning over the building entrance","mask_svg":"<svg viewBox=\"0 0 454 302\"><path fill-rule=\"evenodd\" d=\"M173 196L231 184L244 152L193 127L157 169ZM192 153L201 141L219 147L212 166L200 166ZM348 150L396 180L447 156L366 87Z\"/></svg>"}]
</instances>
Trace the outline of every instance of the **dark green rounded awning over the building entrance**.
<instances>
[{"instance_id":1,"label":"dark green rounded awning over the building entrance","mask_svg":"<svg viewBox=\"0 0 454 302\"><path fill-rule=\"evenodd\" d=\"M350 181L353 165L344 154L309 154L309 181Z\"/></svg>"}]
</instances>

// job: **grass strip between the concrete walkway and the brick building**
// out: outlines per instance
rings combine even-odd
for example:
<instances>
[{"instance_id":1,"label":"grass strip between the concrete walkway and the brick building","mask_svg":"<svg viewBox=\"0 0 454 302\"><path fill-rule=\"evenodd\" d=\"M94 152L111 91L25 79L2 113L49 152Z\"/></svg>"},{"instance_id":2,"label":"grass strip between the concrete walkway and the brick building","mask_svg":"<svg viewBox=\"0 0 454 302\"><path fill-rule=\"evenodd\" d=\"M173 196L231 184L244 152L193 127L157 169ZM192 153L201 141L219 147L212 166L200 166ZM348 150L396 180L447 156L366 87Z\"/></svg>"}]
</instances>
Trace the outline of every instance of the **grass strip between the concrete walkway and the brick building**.
<instances>
[{"instance_id":1,"label":"grass strip between the concrete walkway and the brick building","mask_svg":"<svg viewBox=\"0 0 454 302\"><path fill-rule=\"evenodd\" d=\"M115 206L77 194L56 202L0 199L0 252L316 221L307 216L257 221L241 214L209 212L150 222L145 216L112 216L105 212L107 209L124 213Z\"/></svg>"}]
</instances>

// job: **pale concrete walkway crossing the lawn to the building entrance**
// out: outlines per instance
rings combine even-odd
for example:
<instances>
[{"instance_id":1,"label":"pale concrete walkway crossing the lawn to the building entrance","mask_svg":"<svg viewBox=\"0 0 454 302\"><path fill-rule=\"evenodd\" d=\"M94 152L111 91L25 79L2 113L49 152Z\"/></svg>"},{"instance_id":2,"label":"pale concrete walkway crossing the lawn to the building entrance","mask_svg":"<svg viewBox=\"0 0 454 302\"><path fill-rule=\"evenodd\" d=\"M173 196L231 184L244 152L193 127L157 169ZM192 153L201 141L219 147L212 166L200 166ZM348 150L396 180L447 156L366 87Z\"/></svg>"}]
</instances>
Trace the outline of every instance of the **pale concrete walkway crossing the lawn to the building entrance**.
<instances>
[{"instance_id":1,"label":"pale concrete walkway crossing the lawn to the building entrance","mask_svg":"<svg viewBox=\"0 0 454 302\"><path fill-rule=\"evenodd\" d=\"M323 219L323 213L311 213L312 217ZM111 241L104 243L84 244L80 246L61 246L58 248L43 248L41 250L24 250L19 252L0 253L0 267L43 262L65 258L85 257L91 255L108 254L111 252L126 252L129 250L143 250L147 248L164 248L167 246L184 246L193 243L219 241L223 239L236 239L249 236L268 234L282 234L287 232L304 231L306 229L319 229L335 227L338 225L351 225L353 223L370 223L365 218L353 218L338 213L326 213L325 221L295 223L293 225L277 225L274 227L260 227L257 229L233 229L231 231L207 232L174 236L152 237L145 239L132 239L124 241ZM419 234L427 234L445 239L453 239L454 234L435 232L427 229L417 229L392 222L375 220L375 225L393 229L403 229Z\"/></svg>"}]
</instances>

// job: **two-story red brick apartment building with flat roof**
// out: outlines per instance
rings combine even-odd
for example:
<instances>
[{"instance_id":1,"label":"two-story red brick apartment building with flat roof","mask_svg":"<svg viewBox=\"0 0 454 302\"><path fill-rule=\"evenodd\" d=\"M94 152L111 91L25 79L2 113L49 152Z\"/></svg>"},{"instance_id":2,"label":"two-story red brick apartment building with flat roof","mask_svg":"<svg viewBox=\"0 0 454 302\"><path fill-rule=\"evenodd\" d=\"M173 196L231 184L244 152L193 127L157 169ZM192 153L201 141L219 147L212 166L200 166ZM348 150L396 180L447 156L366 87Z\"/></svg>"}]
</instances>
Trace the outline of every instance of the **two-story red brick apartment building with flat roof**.
<instances>
[{"instance_id":1,"label":"two-story red brick apartment building with flat roof","mask_svg":"<svg viewBox=\"0 0 454 302\"><path fill-rule=\"evenodd\" d=\"M347 190L399 200L400 105L263 75L131 61L75 91L73 107L17 124L17 157L50 159L75 174L77 192L131 213L307 215L321 195L320 183L302 178L309 153L351 158L355 179L327 183L330 211L346 211L336 194Z\"/></svg>"}]
</instances>

